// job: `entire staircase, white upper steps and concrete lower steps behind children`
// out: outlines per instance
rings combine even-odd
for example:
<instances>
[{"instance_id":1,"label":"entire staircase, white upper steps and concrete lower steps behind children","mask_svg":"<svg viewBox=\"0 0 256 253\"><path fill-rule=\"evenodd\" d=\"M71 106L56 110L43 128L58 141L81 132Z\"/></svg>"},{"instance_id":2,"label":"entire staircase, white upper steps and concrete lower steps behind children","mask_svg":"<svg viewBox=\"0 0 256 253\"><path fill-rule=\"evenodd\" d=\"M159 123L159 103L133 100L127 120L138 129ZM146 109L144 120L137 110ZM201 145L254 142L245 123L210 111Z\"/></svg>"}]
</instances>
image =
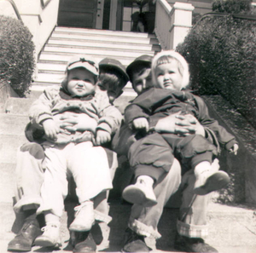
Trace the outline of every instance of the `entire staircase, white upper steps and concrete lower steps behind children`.
<instances>
[{"instance_id":1,"label":"entire staircase, white upper steps and concrete lower steps behind children","mask_svg":"<svg viewBox=\"0 0 256 253\"><path fill-rule=\"evenodd\" d=\"M9 98L6 110L0 113L0 252L6 252L7 244L13 239L11 227L15 221L12 210L12 196L15 187L16 150L26 142L24 129L28 121L27 112L42 91L51 85L59 85L64 76L67 61L74 54L92 55L96 60L113 57L128 66L140 55L154 55L160 51L160 45L154 35L134 32L111 32L79 28L55 27L49 41L45 44L38 59L38 72L32 83L31 94L26 99ZM117 100L121 111L135 93L131 83L125 87L125 93ZM102 225L103 241L99 250L119 251L131 205L120 204L119 199L110 203L110 215L113 221L109 227ZM256 253L256 215L255 208L242 205L228 206L211 203L208 212L209 237L207 243L216 247L221 253ZM177 209L166 209L160 220L162 238L157 242L148 239L154 251L175 251L173 241ZM67 217L63 216L62 239L67 240ZM64 243L64 246L67 244ZM37 248L33 248L37 250ZM66 249L68 251L68 249ZM67 252L63 251L63 252ZM72 251L72 250L71 250ZM40 251L42 252L42 251ZM59 251L62 252L62 251Z\"/></svg>"}]
</instances>

